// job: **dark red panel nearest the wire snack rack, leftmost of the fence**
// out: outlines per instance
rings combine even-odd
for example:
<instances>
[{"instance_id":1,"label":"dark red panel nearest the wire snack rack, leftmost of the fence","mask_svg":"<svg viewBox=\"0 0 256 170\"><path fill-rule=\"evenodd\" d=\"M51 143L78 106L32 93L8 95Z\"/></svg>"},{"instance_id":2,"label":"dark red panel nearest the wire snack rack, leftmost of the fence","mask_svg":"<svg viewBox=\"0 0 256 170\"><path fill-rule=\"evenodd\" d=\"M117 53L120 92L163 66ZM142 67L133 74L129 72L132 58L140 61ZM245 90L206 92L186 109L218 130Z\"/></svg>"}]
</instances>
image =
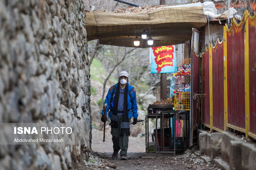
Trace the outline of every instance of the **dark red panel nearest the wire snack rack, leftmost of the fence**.
<instances>
[{"instance_id":1,"label":"dark red panel nearest the wire snack rack, leftmost of the fence","mask_svg":"<svg viewBox=\"0 0 256 170\"><path fill-rule=\"evenodd\" d=\"M192 69L193 69L193 72L192 72L192 77L193 78L193 81L192 81L192 86L193 88L193 91L190 93L192 95L192 97L194 96L194 94L199 94L199 82L200 82L200 56L197 57L196 54L192 53L192 57L193 59L191 60L193 64L192 66ZM199 109L197 107L199 107L199 101L196 100L193 100L192 102L193 104L193 125L196 126L196 125L199 125Z\"/></svg>"}]
</instances>

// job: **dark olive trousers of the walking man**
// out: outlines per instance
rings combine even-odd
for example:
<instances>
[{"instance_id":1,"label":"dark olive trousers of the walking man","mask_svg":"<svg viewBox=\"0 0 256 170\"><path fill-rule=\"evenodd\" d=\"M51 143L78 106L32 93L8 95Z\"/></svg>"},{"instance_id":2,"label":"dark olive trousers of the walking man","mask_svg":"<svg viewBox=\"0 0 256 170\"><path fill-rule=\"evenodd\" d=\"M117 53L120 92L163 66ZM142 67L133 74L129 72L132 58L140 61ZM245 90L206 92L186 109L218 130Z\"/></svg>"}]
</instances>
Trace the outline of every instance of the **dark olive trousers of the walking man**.
<instances>
[{"instance_id":1,"label":"dark olive trousers of the walking man","mask_svg":"<svg viewBox=\"0 0 256 170\"><path fill-rule=\"evenodd\" d=\"M120 128L121 123L123 121L123 115L118 116L117 118L117 128L111 128L111 135L112 135L112 141L113 141L113 149L120 150L120 154L127 154L128 149L128 142L129 142L129 136L124 134L124 136L120 136ZM129 119L131 121L131 119Z\"/></svg>"}]
</instances>

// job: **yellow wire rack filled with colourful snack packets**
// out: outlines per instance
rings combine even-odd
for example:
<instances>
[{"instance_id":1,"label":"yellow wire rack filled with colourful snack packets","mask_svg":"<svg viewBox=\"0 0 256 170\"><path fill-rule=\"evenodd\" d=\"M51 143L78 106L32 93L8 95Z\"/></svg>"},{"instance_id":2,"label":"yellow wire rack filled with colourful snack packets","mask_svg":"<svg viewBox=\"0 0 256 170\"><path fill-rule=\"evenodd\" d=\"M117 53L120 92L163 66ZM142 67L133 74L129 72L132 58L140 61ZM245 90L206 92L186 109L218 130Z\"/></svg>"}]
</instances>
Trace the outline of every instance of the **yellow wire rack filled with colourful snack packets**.
<instances>
[{"instance_id":1,"label":"yellow wire rack filled with colourful snack packets","mask_svg":"<svg viewBox=\"0 0 256 170\"><path fill-rule=\"evenodd\" d=\"M177 64L175 75L175 110L190 110L190 59L184 59Z\"/></svg>"}]
</instances>

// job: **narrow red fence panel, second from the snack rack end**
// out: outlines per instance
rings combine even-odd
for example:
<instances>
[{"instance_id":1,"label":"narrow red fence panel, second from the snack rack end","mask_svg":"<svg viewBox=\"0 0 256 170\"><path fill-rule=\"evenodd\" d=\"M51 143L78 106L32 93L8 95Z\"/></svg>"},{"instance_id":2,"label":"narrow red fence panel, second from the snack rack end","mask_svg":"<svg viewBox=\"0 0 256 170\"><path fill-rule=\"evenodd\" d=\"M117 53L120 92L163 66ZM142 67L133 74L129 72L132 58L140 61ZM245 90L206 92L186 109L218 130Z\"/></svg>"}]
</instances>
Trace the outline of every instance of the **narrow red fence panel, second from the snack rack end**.
<instances>
[{"instance_id":1,"label":"narrow red fence panel, second from the snack rack end","mask_svg":"<svg viewBox=\"0 0 256 170\"><path fill-rule=\"evenodd\" d=\"M202 55L202 122L210 125L210 73L209 73L209 50Z\"/></svg>"}]
</instances>

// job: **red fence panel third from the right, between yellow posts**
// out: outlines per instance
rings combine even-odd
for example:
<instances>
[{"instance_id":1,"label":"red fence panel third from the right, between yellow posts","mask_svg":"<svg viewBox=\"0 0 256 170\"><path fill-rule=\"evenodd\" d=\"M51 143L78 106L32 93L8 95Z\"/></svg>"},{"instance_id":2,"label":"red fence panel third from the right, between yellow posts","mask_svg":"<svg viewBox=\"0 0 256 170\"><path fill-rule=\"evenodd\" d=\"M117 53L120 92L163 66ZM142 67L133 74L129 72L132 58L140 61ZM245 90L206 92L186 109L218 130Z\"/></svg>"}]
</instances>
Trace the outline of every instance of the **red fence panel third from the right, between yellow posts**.
<instances>
[{"instance_id":1,"label":"red fence panel third from the right, between yellow posts","mask_svg":"<svg viewBox=\"0 0 256 170\"><path fill-rule=\"evenodd\" d=\"M213 127L224 130L224 46L217 42L212 49Z\"/></svg>"}]
</instances>

